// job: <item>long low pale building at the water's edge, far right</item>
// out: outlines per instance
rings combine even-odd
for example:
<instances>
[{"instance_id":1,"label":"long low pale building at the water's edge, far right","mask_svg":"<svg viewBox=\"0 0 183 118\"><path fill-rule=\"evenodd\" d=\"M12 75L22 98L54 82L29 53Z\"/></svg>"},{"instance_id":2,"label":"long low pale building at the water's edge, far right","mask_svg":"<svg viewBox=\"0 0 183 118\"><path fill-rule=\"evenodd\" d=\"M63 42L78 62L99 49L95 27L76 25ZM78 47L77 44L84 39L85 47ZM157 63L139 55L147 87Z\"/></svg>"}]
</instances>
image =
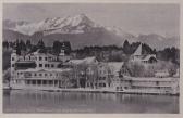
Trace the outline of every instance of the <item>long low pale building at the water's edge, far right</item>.
<instances>
[{"instance_id":1,"label":"long low pale building at the water's edge, far right","mask_svg":"<svg viewBox=\"0 0 183 118\"><path fill-rule=\"evenodd\" d=\"M115 90L126 93L179 94L178 78L134 78L124 77Z\"/></svg>"}]
</instances>

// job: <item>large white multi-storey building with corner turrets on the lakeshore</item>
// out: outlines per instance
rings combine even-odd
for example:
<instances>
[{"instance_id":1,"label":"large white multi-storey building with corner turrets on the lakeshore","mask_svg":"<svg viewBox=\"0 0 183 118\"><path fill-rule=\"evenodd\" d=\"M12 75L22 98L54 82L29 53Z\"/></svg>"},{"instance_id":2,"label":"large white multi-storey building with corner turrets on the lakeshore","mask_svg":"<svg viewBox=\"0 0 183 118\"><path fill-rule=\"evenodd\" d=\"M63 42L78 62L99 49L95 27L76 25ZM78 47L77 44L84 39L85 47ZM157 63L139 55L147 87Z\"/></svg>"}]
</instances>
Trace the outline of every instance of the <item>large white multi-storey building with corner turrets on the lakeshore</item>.
<instances>
[{"instance_id":1,"label":"large white multi-storey building with corner turrets on the lakeshore","mask_svg":"<svg viewBox=\"0 0 183 118\"><path fill-rule=\"evenodd\" d=\"M64 76L64 73L70 71L70 69L60 68L60 65L69 60L70 56L65 55L63 50L59 55L41 52L40 50L25 55L17 55L16 51L13 51L11 54L10 86L13 89L62 88L70 79Z\"/></svg>"}]
</instances>

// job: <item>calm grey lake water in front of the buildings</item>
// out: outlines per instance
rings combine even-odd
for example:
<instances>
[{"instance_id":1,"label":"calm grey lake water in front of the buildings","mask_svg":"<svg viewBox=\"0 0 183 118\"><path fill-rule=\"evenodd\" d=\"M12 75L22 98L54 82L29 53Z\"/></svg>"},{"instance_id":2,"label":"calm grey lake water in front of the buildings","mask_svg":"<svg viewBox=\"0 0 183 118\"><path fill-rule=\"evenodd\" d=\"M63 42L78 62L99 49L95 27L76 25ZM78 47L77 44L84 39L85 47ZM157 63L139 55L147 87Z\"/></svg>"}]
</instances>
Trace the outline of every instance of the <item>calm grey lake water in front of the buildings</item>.
<instances>
[{"instance_id":1,"label":"calm grey lake water in front of the buildings","mask_svg":"<svg viewBox=\"0 0 183 118\"><path fill-rule=\"evenodd\" d=\"M3 113L179 113L179 96L3 91Z\"/></svg>"}]
</instances>

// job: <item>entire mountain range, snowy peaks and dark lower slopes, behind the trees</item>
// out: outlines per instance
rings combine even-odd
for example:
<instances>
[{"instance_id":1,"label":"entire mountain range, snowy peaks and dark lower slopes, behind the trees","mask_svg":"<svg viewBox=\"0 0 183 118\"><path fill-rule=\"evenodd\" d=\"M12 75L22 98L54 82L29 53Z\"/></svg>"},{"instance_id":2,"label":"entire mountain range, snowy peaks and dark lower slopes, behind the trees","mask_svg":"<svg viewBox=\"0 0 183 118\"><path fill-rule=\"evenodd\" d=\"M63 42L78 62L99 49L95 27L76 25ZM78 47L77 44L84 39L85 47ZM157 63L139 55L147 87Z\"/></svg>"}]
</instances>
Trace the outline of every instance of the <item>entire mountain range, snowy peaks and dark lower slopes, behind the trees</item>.
<instances>
[{"instance_id":1,"label":"entire mountain range, snowy peaks and dark lower slopes, behind the trees","mask_svg":"<svg viewBox=\"0 0 183 118\"><path fill-rule=\"evenodd\" d=\"M37 43L42 39L46 45L51 45L54 40L70 41L73 49L85 45L121 47L124 40L129 42L143 42L151 48L161 50L166 47L179 48L179 37L163 37L157 34L135 36L120 27L107 27L96 24L85 14L66 17L46 18L40 22L3 21L3 40L16 39L32 40Z\"/></svg>"}]
</instances>

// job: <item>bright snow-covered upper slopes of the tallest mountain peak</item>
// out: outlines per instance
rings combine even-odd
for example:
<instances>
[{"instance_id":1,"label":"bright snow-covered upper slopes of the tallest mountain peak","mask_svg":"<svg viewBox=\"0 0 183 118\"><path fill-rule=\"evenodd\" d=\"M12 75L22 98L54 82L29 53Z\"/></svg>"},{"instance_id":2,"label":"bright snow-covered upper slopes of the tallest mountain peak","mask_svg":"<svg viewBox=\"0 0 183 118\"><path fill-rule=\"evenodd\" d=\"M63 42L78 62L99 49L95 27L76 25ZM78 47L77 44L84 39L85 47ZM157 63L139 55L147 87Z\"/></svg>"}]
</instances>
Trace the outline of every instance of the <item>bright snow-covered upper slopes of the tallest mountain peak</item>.
<instances>
[{"instance_id":1,"label":"bright snow-covered upper slopes of the tallest mountain peak","mask_svg":"<svg viewBox=\"0 0 183 118\"><path fill-rule=\"evenodd\" d=\"M34 35L35 32L50 34L83 34L91 28L99 27L91 22L86 15L46 18L37 23L16 25L12 30L24 35Z\"/></svg>"}]
</instances>

